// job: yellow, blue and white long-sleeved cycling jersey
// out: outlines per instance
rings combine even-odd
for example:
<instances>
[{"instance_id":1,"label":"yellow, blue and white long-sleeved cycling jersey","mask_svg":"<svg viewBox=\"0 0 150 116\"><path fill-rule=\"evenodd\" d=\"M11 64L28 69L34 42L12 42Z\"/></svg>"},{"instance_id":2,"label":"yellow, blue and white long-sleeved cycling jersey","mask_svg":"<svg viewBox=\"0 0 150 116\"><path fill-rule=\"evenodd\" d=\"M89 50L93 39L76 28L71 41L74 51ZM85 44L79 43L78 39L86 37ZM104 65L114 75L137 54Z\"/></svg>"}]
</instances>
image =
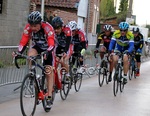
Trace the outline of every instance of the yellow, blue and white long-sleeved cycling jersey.
<instances>
[{"instance_id":1,"label":"yellow, blue and white long-sleeved cycling jersey","mask_svg":"<svg viewBox=\"0 0 150 116\"><path fill-rule=\"evenodd\" d=\"M134 49L133 38L134 36L130 31L127 31L125 36L121 36L120 30L116 30L112 36L109 50L112 51L115 46L115 50L121 52L128 50L128 52L131 53Z\"/></svg>"}]
</instances>

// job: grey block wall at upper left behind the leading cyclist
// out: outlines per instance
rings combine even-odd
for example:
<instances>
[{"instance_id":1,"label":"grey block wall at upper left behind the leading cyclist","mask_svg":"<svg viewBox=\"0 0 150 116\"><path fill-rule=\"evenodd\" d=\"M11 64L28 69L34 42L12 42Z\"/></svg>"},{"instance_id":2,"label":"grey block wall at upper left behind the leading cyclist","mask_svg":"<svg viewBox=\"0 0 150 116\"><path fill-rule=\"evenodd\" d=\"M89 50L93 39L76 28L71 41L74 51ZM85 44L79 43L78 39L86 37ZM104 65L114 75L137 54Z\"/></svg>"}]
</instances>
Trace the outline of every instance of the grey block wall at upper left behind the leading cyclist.
<instances>
[{"instance_id":1,"label":"grey block wall at upper left behind the leading cyclist","mask_svg":"<svg viewBox=\"0 0 150 116\"><path fill-rule=\"evenodd\" d=\"M18 45L29 12L30 0L3 0L0 46Z\"/></svg>"}]
</instances>

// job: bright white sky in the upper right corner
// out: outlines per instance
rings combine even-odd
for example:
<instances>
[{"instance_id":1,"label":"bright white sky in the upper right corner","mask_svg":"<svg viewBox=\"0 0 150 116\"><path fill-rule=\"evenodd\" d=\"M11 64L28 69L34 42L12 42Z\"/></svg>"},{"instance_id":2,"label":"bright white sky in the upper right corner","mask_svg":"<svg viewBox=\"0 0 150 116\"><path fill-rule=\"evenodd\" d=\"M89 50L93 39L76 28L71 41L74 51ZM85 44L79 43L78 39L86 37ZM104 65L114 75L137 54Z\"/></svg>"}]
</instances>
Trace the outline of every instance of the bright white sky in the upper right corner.
<instances>
[{"instance_id":1,"label":"bright white sky in the upper right corner","mask_svg":"<svg viewBox=\"0 0 150 116\"><path fill-rule=\"evenodd\" d=\"M133 0L133 15L138 25L150 25L150 0Z\"/></svg>"}]
</instances>

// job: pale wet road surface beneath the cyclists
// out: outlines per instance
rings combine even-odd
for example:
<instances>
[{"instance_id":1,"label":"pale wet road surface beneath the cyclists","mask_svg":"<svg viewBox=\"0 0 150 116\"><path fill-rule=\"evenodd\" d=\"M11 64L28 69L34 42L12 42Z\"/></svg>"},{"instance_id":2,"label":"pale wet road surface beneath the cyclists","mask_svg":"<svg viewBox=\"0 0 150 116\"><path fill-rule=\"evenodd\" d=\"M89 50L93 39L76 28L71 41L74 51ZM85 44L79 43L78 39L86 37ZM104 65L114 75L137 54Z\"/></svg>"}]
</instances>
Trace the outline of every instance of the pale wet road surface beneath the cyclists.
<instances>
[{"instance_id":1,"label":"pale wet road surface beneath the cyclists","mask_svg":"<svg viewBox=\"0 0 150 116\"><path fill-rule=\"evenodd\" d=\"M51 111L44 112L40 104L35 116L150 116L149 67L150 61L142 63L141 76L128 80L123 93L116 97L112 82L99 87L96 76L85 78L78 93L72 88L65 101L58 93ZM21 116L19 90L13 92L17 86L0 88L0 116Z\"/></svg>"}]
</instances>

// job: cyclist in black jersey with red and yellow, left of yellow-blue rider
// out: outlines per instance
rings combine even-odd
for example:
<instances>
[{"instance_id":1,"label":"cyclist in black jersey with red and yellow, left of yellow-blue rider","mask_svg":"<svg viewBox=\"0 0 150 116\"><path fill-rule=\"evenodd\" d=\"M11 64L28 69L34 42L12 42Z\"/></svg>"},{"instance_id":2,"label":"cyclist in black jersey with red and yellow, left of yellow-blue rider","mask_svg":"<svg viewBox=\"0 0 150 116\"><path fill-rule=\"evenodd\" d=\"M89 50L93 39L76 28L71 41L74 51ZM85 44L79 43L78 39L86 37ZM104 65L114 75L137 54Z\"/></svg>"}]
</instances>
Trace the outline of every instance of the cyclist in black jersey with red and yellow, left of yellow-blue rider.
<instances>
[{"instance_id":1,"label":"cyclist in black jersey with red and yellow, left of yellow-blue rider","mask_svg":"<svg viewBox=\"0 0 150 116\"><path fill-rule=\"evenodd\" d=\"M100 52L107 52L108 51L111 37L113 35L112 26L106 24L106 25L104 25L103 29L104 29L104 31L98 35L98 40L96 43L96 50L94 51L95 53L98 52L99 45L101 42L103 42L103 46L100 47ZM100 53L100 58L103 59L103 57L104 57L104 53ZM113 65L112 65L112 62L110 61L109 78L108 78L109 82L111 82L111 80L112 80L112 77L111 77L112 71L113 71Z\"/></svg>"}]
</instances>

